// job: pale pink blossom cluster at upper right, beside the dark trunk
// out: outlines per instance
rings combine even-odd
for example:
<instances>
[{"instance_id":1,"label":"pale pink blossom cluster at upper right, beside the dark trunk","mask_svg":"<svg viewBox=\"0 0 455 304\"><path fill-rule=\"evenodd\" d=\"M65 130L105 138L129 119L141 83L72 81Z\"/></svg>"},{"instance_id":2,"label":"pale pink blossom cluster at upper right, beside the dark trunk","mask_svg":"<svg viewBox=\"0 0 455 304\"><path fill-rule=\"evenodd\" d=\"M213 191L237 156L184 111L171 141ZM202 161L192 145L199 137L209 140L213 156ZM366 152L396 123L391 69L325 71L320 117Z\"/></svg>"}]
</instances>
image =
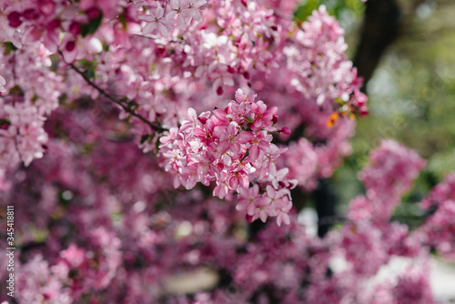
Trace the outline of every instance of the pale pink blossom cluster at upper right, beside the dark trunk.
<instances>
[{"instance_id":1,"label":"pale pink blossom cluster at upper right, beside the dark trunk","mask_svg":"<svg viewBox=\"0 0 455 304\"><path fill-rule=\"evenodd\" d=\"M295 73L291 85L307 98L316 97L318 105L339 100L347 108L352 105L366 112L367 98L359 91L357 69L344 55L348 45L338 21L321 5L302 27L294 44L284 49L288 67Z\"/></svg>"}]
</instances>

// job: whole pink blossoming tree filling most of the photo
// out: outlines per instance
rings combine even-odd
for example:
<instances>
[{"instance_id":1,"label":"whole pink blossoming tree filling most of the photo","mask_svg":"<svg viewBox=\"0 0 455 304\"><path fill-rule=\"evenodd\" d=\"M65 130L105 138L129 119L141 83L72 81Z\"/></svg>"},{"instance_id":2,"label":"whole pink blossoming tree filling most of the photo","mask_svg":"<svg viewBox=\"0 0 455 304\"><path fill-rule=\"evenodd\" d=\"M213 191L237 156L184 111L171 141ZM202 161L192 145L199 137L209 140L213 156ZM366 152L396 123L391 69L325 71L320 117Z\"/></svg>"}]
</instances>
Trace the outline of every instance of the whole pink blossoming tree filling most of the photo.
<instances>
[{"instance_id":1,"label":"whole pink blossoming tree filling most of the photo","mask_svg":"<svg viewBox=\"0 0 455 304\"><path fill-rule=\"evenodd\" d=\"M0 203L15 206L14 301L433 301L428 258L432 248L454 258L455 184L447 177L422 202L434 212L420 228L390 222L425 166L410 149L384 141L371 152L365 196L326 238L298 223L292 192L333 174L368 109L337 20L321 6L295 22L296 5L0 4ZM392 256L415 263L370 281ZM333 272L339 257L349 266ZM167 289L201 268L218 275L210 289Z\"/></svg>"}]
</instances>

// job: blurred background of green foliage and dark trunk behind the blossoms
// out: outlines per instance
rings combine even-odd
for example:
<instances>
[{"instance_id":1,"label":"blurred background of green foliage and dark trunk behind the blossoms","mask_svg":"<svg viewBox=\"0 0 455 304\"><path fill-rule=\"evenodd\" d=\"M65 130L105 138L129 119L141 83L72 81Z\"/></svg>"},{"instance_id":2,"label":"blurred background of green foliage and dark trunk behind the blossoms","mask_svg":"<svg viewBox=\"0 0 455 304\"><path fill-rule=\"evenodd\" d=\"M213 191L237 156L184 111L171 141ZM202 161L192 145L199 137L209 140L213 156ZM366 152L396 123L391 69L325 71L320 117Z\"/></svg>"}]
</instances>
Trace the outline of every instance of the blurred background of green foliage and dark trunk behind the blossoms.
<instances>
[{"instance_id":1,"label":"blurred background of green foliage and dark trunk behind the blossoms","mask_svg":"<svg viewBox=\"0 0 455 304\"><path fill-rule=\"evenodd\" d=\"M296 18L305 20L319 5L326 5L346 31L348 56L364 77L370 112L358 121L351 156L327 181L336 206L320 210L317 190L308 206L319 206L318 212L305 208L301 218L316 225L318 214L343 215L349 200L364 192L357 174L369 150L392 138L428 161L394 215L410 228L419 226L425 215L418 203L455 171L455 1L368 0L363 5L357 0L306 0ZM323 191L327 195L328 188ZM384 271L390 275L405 264L394 261ZM435 256L432 268L437 298L455 302L455 266Z\"/></svg>"}]
</instances>

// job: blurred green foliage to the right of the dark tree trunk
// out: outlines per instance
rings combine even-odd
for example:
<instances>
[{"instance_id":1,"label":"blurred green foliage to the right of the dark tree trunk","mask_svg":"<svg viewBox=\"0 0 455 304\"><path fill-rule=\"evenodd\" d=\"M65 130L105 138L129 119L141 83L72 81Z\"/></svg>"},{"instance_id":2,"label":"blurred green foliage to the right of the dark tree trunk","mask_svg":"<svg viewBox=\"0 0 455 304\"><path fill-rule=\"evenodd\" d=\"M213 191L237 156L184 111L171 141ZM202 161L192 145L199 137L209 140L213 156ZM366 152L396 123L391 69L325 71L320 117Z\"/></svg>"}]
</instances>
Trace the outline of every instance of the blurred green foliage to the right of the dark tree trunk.
<instances>
[{"instance_id":1,"label":"blurred green foliage to the right of the dark tree trunk","mask_svg":"<svg viewBox=\"0 0 455 304\"><path fill-rule=\"evenodd\" d=\"M413 3L399 1L404 14L409 14L406 9ZM300 14L306 13L302 9ZM408 23L402 35L389 47L369 81L369 117L359 119L351 140L353 153L333 181L343 212L351 198L364 192L357 174L379 140L395 139L417 150L428 167L395 212L397 219L415 227L422 219L415 203L455 171L455 1L422 1L412 14L405 15ZM360 22L354 23L347 31L351 57L360 26Z\"/></svg>"}]
</instances>

